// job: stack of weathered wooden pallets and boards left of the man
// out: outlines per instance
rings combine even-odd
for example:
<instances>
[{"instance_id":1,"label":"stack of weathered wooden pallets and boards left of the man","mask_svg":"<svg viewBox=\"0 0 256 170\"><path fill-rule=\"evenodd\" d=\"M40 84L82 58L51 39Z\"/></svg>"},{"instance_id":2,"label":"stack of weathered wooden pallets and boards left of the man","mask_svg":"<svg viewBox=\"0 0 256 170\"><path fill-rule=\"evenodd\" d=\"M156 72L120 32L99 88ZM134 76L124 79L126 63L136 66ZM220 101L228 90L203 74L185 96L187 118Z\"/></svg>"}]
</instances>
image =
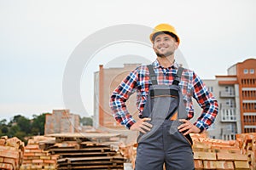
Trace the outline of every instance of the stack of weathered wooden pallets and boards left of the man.
<instances>
[{"instance_id":1,"label":"stack of weathered wooden pallets and boards left of the man","mask_svg":"<svg viewBox=\"0 0 256 170\"><path fill-rule=\"evenodd\" d=\"M52 134L56 142L44 144L45 150L59 155L56 169L124 169L125 158L111 141L114 134ZM108 141L106 141L108 139Z\"/></svg>"}]
</instances>

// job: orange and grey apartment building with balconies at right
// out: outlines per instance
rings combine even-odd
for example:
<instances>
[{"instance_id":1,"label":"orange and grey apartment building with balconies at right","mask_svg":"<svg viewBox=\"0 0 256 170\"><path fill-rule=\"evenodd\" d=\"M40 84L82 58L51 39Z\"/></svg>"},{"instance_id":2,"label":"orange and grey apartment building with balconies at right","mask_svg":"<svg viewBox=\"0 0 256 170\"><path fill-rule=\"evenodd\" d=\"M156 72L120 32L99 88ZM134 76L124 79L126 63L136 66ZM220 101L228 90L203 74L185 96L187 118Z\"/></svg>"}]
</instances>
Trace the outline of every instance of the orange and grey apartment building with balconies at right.
<instances>
[{"instance_id":1,"label":"orange and grey apartment building with balconies at right","mask_svg":"<svg viewBox=\"0 0 256 170\"><path fill-rule=\"evenodd\" d=\"M203 80L218 100L216 122L210 137L235 139L236 133L256 133L256 59L246 59L228 69L228 75ZM200 113L199 107L195 108Z\"/></svg>"}]
</instances>

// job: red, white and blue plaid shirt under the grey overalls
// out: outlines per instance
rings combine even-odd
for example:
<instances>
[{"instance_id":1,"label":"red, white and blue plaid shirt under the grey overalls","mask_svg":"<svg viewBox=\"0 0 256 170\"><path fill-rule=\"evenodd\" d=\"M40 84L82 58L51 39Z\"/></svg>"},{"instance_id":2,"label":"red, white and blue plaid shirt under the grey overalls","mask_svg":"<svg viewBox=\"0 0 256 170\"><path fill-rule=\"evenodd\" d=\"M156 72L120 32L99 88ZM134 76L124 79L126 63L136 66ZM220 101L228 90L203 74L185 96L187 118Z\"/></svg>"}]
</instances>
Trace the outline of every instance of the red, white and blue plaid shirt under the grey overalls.
<instances>
[{"instance_id":1,"label":"red, white and blue plaid shirt under the grey overalls","mask_svg":"<svg viewBox=\"0 0 256 170\"><path fill-rule=\"evenodd\" d=\"M177 74L177 63L164 68L156 59L153 62L154 72L157 76L158 84L172 84L174 77ZM137 67L134 71L125 77L123 82L119 84L113 91L110 98L110 108L117 122L130 128L136 121L132 118L126 109L125 101L129 96L137 92L137 109L141 115L144 105L147 101L148 89L151 84L147 65ZM205 84L201 81L194 71L188 69L183 70L181 82L179 83L183 93L183 102L186 107L189 119L194 116L194 107L192 97L197 100L198 104L203 109L201 116L195 122L195 126L201 131L207 129L218 114L218 103L212 94L207 90Z\"/></svg>"}]
</instances>

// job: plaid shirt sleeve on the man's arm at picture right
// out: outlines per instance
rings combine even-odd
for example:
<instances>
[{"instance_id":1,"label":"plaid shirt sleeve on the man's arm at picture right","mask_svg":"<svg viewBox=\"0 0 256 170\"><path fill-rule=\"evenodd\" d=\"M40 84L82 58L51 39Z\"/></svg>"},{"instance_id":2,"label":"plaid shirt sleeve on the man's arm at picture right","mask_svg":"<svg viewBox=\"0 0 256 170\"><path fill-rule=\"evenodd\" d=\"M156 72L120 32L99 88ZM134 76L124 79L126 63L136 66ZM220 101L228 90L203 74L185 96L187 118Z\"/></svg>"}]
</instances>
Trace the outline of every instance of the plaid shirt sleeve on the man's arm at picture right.
<instances>
[{"instance_id":1,"label":"plaid shirt sleeve on the man's arm at picture right","mask_svg":"<svg viewBox=\"0 0 256 170\"><path fill-rule=\"evenodd\" d=\"M195 72L193 72L193 86L193 97L202 108L201 116L198 117L195 126L199 127L202 132L215 121L215 117L218 115L218 102Z\"/></svg>"}]
</instances>

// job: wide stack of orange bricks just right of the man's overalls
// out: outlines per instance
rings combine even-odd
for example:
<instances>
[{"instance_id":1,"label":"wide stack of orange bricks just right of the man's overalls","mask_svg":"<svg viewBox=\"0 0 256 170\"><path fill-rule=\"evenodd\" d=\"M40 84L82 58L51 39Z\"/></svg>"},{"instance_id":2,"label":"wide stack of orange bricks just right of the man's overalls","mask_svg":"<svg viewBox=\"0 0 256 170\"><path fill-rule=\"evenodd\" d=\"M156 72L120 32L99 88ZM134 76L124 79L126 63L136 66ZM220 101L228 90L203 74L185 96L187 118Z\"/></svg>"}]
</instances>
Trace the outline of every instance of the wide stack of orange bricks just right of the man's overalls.
<instances>
[{"instance_id":1,"label":"wide stack of orange bricks just right of the man's overalls","mask_svg":"<svg viewBox=\"0 0 256 170\"><path fill-rule=\"evenodd\" d=\"M192 134L195 169L253 169L237 140L209 139Z\"/></svg>"}]
</instances>

